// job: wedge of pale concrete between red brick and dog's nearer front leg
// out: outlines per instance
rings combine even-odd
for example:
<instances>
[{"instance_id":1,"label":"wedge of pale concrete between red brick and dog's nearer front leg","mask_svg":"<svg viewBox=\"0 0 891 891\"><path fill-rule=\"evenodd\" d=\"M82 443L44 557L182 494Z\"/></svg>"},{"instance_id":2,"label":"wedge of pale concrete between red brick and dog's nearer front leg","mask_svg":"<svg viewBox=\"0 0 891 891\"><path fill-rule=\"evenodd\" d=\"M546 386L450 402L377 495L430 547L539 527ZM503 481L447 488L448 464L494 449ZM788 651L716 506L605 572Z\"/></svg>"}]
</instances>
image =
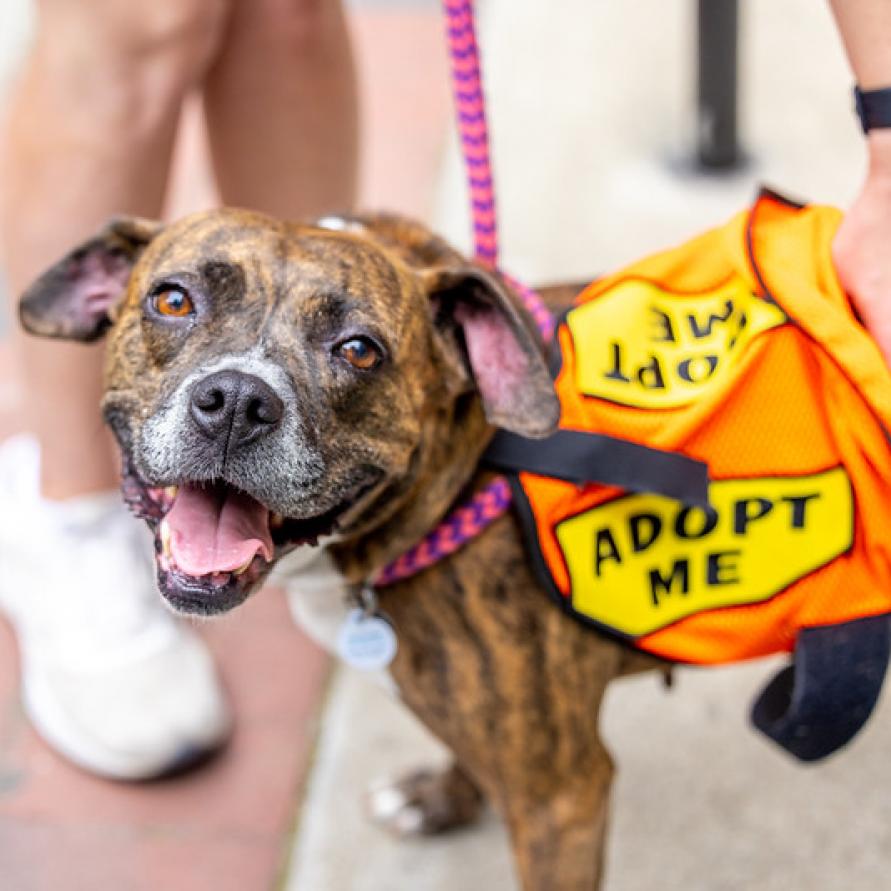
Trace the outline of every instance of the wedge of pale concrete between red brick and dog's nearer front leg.
<instances>
[{"instance_id":1,"label":"wedge of pale concrete between red brick and dog's nearer front leg","mask_svg":"<svg viewBox=\"0 0 891 891\"><path fill-rule=\"evenodd\" d=\"M350 669L331 687L286 891L513 888L507 839L488 814L472 831L400 841L366 819L372 779L442 764L443 748L392 696Z\"/></svg>"}]
</instances>

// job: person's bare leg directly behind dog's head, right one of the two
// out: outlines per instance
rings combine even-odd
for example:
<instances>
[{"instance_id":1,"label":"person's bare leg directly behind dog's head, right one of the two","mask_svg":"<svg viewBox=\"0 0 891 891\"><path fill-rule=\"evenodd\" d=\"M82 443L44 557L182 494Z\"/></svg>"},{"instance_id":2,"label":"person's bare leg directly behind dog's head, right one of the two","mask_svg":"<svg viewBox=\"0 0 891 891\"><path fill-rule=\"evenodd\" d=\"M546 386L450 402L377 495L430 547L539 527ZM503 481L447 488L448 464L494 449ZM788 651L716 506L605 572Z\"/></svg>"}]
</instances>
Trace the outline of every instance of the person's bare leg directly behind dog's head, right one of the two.
<instances>
[{"instance_id":1,"label":"person's bare leg directly behind dog's head, right one of the two","mask_svg":"<svg viewBox=\"0 0 891 891\"><path fill-rule=\"evenodd\" d=\"M357 100L339 0L234 0L204 99L225 203L284 218L352 206Z\"/></svg>"}]
</instances>

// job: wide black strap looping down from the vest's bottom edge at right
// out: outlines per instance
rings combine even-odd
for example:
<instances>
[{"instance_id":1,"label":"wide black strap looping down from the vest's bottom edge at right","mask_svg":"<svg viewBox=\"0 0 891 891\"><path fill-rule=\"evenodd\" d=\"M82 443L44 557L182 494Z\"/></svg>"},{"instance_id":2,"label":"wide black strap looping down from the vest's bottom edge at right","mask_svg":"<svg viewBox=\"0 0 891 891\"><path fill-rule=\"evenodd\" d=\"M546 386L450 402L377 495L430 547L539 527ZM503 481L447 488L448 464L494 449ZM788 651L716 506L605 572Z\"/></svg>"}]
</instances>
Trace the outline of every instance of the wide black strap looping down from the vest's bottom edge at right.
<instances>
[{"instance_id":1,"label":"wide black strap looping down from the vest's bottom edge at right","mask_svg":"<svg viewBox=\"0 0 891 891\"><path fill-rule=\"evenodd\" d=\"M764 688L752 723L801 761L818 761L866 723L888 665L891 614L803 628L793 664Z\"/></svg>"}]
</instances>

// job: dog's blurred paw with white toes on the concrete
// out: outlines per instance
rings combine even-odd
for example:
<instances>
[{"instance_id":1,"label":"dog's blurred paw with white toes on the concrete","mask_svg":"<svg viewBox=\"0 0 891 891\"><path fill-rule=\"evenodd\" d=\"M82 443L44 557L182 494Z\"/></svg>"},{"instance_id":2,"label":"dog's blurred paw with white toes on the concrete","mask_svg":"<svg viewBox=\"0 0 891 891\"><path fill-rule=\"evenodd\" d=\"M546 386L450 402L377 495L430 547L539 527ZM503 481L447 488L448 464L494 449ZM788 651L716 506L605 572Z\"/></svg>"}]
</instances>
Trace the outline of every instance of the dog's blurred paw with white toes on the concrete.
<instances>
[{"instance_id":1,"label":"dog's blurred paw with white toes on the concrete","mask_svg":"<svg viewBox=\"0 0 891 891\"><path fill-rule=\"evenodd\" d=\"M366 796L369 817L403 838L467 826L476 820L482 803L479 790L457 768L378 780Z\"/></svg>"}]
</instances>

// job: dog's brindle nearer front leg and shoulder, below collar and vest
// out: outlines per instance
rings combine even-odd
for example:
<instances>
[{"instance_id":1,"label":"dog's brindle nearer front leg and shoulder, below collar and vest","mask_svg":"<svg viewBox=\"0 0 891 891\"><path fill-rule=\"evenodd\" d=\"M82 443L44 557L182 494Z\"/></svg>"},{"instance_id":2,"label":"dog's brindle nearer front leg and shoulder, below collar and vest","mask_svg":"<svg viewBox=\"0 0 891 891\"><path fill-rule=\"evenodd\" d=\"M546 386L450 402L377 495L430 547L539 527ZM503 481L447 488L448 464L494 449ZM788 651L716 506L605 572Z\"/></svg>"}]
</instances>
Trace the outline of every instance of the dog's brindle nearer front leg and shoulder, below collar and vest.
<instances>
[{"instance_id":1,"label":"dog's brindle nearer front leg and shoulder, below collar and vest","mask_svg":"<svg viewBox=\"0 0 891 891\"><path fill-rule=\"evenodd\" d=\"M381 607L403 700L504 815L524 891L596 891L613 774L599 712L623 649L548 602L510 518Z\"/></svg>"}]
</instances>

